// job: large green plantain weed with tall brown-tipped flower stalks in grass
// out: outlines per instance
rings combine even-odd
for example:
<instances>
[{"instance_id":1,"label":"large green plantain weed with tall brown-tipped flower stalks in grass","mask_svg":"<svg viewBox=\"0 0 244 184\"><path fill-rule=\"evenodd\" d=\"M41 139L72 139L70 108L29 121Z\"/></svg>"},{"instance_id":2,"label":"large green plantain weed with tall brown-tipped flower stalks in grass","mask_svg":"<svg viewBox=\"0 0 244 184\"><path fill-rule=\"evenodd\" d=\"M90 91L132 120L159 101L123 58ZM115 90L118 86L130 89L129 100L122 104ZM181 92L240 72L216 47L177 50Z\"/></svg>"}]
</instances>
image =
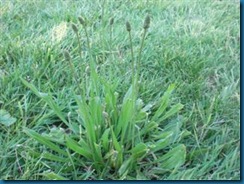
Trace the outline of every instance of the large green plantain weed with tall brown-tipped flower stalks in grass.
<instances>
[{"instance_id":1,"label":"large green plantain weed with tall brown-tipped flower stalks in grass","mask_svg":"<svg viewBox=\"0 0 244 184\"><path fill-rule=\"evenodd\" d=\"M88 84L78 80L78 74L86 72L85 69L77 72L69 52L64 51L65 61L69 63L71 75L79 89L79 95L75 92L73 94L77 103L77 122L67 121L65 113L50 93L39 92L33 84L21 78L23 84L45 101L67 129L71 130L70 133L61 132L57 141L48 133L43 135L24 128L27 135L45 145L48 150L32 150L32 155L41 157L44 163L60 164L59 170L52 170L51 167L51 170L40 174L47 179L160 179L163 174L176 172L185 162L186 148L179 144L182 123L168 121L183 108L180 103L170 106L175 85L170 85L154 104L144 104L138 97L141 55L150 17L146 17L143 25L137 59L132 44L132 26L126 22L131 49L132 82L121 103L112 84L96 70L97 63L91 53L86 20L83 17L78 20L85 33L89 54L86 69L90 72L86 81ZM112 25L113 18L109 27L110 46ZM78 27L75 24L71 26L80 40ZM81 43L79 49L80 58L84 61ZM168 126L169 123L171 126Z\"/></svg>"}]
</instances>

